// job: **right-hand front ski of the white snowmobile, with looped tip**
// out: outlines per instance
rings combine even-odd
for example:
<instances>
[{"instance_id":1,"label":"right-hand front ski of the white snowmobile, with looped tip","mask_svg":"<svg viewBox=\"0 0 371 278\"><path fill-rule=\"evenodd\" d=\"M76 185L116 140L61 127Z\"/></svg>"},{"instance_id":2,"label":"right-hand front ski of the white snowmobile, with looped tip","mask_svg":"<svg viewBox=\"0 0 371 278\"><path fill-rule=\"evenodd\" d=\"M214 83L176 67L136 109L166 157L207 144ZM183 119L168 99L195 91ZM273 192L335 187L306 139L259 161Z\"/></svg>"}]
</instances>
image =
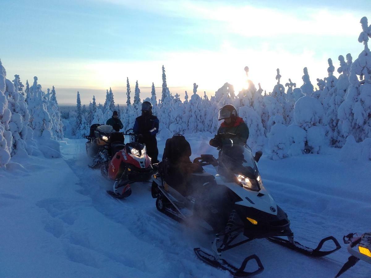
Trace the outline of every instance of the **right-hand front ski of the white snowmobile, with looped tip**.
<instances>
[{"instance_id":1,"label":"right-hand front ski of the white snowmobile, with looped tip","mask_svg":"<svg viewBox=\"0 0 371 278\"><path fill-rule=\"evenodd\" d=\"M333 252L335 252L335 251L337 251L341 248L341 245L336 240L336 238L334 238L334 236L328 236L327 238L322 239L315 249L312 249L312 248L306 247L304 245L301 245L297 241L294 241L294 243L291 243L287 239L279 238L277 236L272 236L272 237L267 238L267 239L269 241L272 241L272 242L277 243L279 245L285 246L285 247L290 248L292 250L298 251L298 252L300 252L304 255L310 256L310 257L324 257L324 256L326 256L328 254L331 254L331 253L333 253ZM333 241L336 245L336 248L333 249L333 250L330 250L330 251L321 251L320 249L322 248L322 245L324 245L324 243L326 241Z\"/></svg>"}]
</instances>

